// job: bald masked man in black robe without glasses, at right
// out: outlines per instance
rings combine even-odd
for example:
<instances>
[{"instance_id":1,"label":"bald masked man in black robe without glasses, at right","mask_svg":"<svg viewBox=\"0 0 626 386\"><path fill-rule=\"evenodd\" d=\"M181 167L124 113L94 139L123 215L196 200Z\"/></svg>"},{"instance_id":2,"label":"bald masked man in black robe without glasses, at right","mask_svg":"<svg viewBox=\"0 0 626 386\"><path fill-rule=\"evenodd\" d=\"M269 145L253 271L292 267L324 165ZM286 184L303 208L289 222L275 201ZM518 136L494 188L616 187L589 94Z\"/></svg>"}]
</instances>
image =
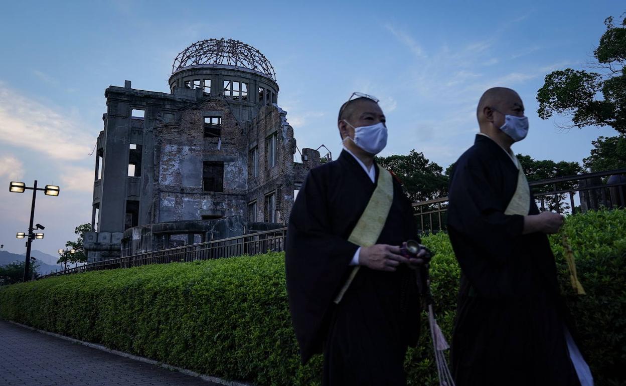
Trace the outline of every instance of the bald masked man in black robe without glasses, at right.
<instances>
[{"instance_id":1,"label":"bald masked man in black robe without glasses, at right","mask_svg":"<svg viewBox=\"0 0 626 386\"><path fill-rule=\"evenodd\" d=\"M537 209L511 151L528 133L520 96L491 88L474 146L454 166L448 233L461 267L452 342L456 385L592 385L567 327L546 235L563 216Z\"/></svg>"}]
</instances>

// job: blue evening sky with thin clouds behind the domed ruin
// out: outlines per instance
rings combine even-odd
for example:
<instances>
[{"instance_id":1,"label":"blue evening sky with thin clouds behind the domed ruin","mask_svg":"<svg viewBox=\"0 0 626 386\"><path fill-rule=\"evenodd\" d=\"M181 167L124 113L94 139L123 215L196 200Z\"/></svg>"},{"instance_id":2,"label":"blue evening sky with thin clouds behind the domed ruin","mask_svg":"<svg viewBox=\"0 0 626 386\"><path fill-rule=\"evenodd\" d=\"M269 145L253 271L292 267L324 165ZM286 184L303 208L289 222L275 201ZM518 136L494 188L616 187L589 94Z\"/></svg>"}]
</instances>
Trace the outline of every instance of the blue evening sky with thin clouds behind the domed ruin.
<instances>
[{"instance_id":1,"label":"blue evening sky with thin clouds behind the domed ruin","mask_svg":"<svg viewBox=\"0 0 626 386\"><path fill-rule=\"evenodd\" d=\"M492 86L518 91L530 121L513 147L539 160L578 161L610 128L563 131L541 120L536 92L555 69L585 68L607 16L623 1L5 1L0 6L0 243L23 253L31 196L9 181L59 185L39 193L33 248L51 255L91 221L95 147L105 89L169 92L173 59L196 41L232 38L273 64L278 104L297 145L341 143L339 106L353 91L381 99L381 156L421 151L446 168L471 146L475 111ZM322 155L324 155L322 153Z\"/></svg>"}]
</instances>

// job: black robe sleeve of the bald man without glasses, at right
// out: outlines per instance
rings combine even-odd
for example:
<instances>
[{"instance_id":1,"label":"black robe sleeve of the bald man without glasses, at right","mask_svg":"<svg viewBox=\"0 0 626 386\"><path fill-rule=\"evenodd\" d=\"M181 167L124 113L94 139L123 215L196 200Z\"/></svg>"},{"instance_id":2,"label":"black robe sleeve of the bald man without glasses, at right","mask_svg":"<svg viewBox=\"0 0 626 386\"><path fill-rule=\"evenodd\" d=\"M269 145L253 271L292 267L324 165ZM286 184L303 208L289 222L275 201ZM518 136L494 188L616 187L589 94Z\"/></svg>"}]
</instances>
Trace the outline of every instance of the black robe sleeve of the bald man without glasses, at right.
<instances>
[{"instance_id":1,"label":"black robe sleeve of the bald man without glasses, at right","mask_svg":"<svg viewBox=\"0 0 626 386\"><path fill-rule=\"evenodd\" d=\"M508 256L513 255L513 239L522 234L524 216L504 214L508 205L504 184L509 181L497 176L493 166L476 164L462 163L454 170L448 227L468 245L477 246L492 263L506 264ZM495 180L503 182L498 185Z\"/></svg>"}]
</instances>

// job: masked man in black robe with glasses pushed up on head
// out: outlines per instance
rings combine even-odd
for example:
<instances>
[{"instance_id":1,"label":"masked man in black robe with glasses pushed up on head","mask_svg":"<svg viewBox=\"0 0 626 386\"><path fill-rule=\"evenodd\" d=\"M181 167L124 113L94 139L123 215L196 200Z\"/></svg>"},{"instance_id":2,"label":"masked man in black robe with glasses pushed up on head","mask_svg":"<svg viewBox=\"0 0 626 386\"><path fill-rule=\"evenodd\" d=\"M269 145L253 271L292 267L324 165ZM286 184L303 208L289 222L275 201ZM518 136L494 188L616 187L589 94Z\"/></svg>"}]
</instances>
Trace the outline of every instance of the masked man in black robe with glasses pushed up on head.
<instances>
[{"instance_id":1,"label":"masked man in black robe with glasses pushed up on head","mask_svg":"<svg viewBox=\"0 0 626 386\"><path fill-rule=\"evenodd\" d=\"M356 98L355 98L356 97ZM324 353L322 385L406 385L419 335L420 252L411 202L374 161L387 143L378 100L353 93L339 109L339 159L307 176L287 230L287 293L302 362Z\"/></svg>"}]
</instances>

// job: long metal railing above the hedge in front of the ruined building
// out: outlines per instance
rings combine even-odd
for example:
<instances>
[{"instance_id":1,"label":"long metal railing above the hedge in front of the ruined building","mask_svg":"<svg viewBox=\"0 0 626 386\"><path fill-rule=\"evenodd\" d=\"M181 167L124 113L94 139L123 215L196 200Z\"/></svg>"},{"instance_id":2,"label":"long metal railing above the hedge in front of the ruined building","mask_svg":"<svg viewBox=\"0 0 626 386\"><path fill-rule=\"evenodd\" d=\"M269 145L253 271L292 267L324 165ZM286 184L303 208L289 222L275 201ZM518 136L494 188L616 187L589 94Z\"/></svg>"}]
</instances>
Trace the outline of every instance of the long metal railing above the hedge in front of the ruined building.
<instances>
[{"instance_id":1,"label":"long metal railing above the hedge in front of the ruined building","mask_svg":"<svg viewBox=\"0 0 626 386\"><path fill-rule=\"evenodd\" d=\"M222 238L220 240L206 241L205 243L112 258L110 260L89 263L59 272L48 273L48 275L42 275L38 277L38 279L97 270L139 267L140 265L148 264L193 262L196 260L211 260L241 255L259 255L267 251L283 251L285 249L286 233L287 228L279 228L231 238Z\"/></svg>"}]
</instances>

